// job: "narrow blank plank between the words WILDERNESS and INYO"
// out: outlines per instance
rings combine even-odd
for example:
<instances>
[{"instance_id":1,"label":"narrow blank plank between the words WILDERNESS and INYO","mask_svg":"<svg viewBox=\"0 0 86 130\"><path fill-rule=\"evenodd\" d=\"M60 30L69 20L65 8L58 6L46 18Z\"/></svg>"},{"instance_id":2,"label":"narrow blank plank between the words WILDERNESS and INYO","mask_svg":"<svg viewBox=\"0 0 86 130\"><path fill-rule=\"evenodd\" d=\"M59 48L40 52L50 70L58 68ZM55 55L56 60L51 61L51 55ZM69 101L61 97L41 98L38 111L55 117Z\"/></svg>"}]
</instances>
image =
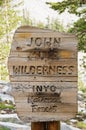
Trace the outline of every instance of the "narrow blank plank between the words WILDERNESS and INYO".
<instances>
[{"instance_id":1,"label":"narrow blank plank between the words WILDERNESS and INYO","mask_svg":"<svg viewBox=\"0 0 86 130\"><path fill-rule=\"evenodd\" d=\"M11 82L77 82L77 76L19 76L10 75Z\"/></svg>"}]
</instances>

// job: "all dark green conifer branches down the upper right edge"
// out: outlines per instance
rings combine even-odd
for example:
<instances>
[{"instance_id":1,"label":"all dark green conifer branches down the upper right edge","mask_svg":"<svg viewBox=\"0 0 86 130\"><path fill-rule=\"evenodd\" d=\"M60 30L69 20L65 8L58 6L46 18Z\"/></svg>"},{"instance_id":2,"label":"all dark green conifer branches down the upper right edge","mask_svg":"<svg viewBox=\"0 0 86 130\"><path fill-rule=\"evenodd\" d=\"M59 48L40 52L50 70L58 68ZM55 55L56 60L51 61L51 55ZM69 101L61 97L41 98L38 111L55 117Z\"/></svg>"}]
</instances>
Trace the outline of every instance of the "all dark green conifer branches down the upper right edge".
<instances>
[{"instance_id":1,"label":"all dark green conifer branches down the upper right edge","mask_svg":"<svg viewBox=\"0 0 86 130\"><path fill-rule=\"evenodd\" d=\"M78 49L86 52L86 8L82 7L83 4L86 4L86 0L63 0L57 3L47 2L47 4L50 4L51 8L59 13L67 10L69 13L80 17L68 31L77 34Z\"/></svg>"}]
</instances>

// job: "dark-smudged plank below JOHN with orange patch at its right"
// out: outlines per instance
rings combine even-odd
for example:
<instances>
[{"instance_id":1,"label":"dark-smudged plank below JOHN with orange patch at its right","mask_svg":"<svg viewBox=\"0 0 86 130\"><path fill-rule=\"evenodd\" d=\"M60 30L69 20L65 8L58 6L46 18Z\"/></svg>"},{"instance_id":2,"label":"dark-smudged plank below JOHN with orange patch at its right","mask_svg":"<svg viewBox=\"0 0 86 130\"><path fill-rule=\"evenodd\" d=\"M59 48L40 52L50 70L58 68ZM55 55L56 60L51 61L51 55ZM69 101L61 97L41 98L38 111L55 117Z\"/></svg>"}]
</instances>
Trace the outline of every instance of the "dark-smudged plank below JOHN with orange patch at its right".
<instances>
[{"instance_id":1,"label":"dark-smudged plank below JOHN with orange patch at its right","mask_svg":"<svg viewBox=\"0 0 86 130\"><path fill-rule=\"evenodd\" d=\"M50 58L50 59L66 59L66 58L76 58L77 54L75 51L69 51L64 49L50 50L50 51L29 51L29 52L15 52L11 51L9 58Z\"/></svg>"}]
</instances>

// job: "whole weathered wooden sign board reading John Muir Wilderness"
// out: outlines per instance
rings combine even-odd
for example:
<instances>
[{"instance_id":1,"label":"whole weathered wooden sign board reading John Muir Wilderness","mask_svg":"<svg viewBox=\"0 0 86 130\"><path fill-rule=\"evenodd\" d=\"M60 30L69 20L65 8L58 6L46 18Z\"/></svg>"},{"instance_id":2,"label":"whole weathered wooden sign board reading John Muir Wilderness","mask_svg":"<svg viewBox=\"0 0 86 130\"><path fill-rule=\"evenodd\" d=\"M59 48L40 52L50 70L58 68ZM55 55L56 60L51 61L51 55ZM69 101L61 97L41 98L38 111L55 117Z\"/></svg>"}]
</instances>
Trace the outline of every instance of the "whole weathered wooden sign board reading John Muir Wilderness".
<instances>
[{"instance_id":1,"label":"whole weathered wooden sign board reading John Muir Wilderness","mask_svg":"<svg viewBox=\"0 0 86 130\"><path fill-rule=\"evenodd\" d=\"M16 110L24 122L59 121L77 112L77 41L74 35L23 26L8 58Z\"/></svg>"}]
</instances>

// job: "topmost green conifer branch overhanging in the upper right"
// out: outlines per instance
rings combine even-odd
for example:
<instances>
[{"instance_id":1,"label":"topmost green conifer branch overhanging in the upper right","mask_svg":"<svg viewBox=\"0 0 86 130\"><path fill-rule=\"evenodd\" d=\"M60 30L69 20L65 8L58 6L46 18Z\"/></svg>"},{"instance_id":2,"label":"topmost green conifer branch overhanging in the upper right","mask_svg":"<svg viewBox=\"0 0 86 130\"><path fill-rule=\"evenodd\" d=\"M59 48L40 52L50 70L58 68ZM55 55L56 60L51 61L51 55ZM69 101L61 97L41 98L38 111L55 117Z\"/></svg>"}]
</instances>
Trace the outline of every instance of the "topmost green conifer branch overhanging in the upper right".
<instances>
[{"instance_id":1,"label":"topmost green conifer branch overhanging in the upper right","mask_svg":"<svg viewBox=\"0 0 86 130\"><path fill-rule=\"evenodd\" d=\"M80 15L81 11L78 10L79 7L83 4L81 0L63 0L62 2L46 2L51 5L51 8L54 10L58 10L59 13L63 13L66 9L69 13ZM86 2L84 3L86 4Z\"/></svg>"}]
</instances>

